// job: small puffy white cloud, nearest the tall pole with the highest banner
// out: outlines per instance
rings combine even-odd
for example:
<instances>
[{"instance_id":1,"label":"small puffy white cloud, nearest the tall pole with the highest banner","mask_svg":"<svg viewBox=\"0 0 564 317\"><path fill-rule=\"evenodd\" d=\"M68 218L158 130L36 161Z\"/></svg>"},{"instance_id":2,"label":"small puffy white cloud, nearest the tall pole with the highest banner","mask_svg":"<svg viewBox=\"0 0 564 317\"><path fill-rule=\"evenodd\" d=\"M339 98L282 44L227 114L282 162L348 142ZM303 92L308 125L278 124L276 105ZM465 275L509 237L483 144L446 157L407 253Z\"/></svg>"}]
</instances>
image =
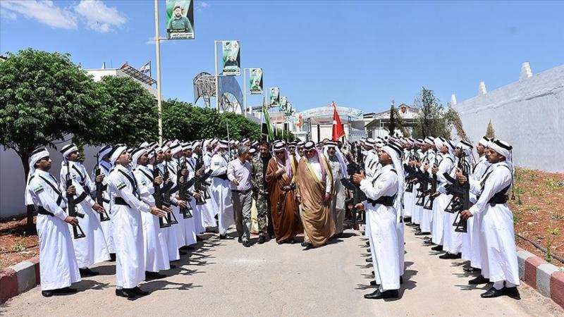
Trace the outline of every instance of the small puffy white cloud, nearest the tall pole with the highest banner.
<instances>
[{"instance_id":1,"label":"small puffy white cloud, nearest the tall pole with the highest banner","mask_svg":"<svg viewBox=\"0 0 564 317\"><path fill-rule=\"evenodd\" d=\"M100 0L81 0L74 11L86 19L85 23L90 30L102 33L111 32L126 21L125 15L117 8L110 8Z\"/></svg>"}]
</instances>

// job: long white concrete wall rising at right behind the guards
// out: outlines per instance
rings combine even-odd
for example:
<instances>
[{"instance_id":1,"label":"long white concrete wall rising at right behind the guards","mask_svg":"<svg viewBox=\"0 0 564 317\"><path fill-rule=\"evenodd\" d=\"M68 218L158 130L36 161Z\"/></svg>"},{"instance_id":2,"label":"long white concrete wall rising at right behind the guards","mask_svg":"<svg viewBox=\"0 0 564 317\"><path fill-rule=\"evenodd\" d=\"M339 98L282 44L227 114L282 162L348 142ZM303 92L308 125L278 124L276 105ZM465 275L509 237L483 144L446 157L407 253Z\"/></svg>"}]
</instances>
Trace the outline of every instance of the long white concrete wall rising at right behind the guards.
<instances>
[{"instance_id":1,"label":"long white concrete wall rising at right behind the guards","mask_svg":"<svg viewBox=\"0 0 564 317\"><path fill-rule=\"evenodd\" d=\"M522 77L453 108L474 144L491 120L496 137L513 145L517 166L564 172L564 65Z\"/></svg>"}]
</instances>

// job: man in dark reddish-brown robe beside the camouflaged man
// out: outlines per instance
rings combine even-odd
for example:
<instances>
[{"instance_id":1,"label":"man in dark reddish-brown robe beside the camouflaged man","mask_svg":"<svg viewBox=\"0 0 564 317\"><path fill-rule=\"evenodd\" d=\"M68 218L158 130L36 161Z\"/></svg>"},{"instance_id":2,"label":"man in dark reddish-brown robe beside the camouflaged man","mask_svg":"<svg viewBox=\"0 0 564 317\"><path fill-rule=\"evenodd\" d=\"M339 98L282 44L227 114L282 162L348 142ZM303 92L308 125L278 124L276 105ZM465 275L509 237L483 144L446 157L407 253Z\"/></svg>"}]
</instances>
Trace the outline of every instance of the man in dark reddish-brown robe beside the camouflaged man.
<instances>
[{"instance_id":1,"label":"man in dark reddish-brown robe beside the camouflaged man","mask_svg":"<svg viewBox=\"0 0 564 317\"><path fill-rule=\"evenodd\" d=\"M266 168L264 180L269 185L272 225L276 242L294 243L294 237L302 232L302 223L295 197L295 175L298 162L282 142L274 144L274 157Z\"/></svg>"}]
</instances>

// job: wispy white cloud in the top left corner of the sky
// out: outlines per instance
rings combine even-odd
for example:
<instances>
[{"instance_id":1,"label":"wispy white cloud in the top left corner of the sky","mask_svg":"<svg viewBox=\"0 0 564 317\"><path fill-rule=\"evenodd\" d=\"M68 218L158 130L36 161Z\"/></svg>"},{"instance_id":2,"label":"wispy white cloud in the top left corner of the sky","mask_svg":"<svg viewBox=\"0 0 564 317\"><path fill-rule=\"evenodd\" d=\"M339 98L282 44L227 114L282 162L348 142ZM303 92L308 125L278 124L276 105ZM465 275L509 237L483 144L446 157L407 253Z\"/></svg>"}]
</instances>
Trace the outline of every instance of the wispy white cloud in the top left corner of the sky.
<instances>
[{"instance_id":1,"label":"wispy white cloud in the top left corner of the sky","mask_svg":"<svg viewBox=\"0 0 564 317\"><path fill-rule=\"evenodd\" d=\"M50 0L2 0L0 1L0 11L2 18L11 20L16 20L18 15L23 15L25 18L37 20L50 27L68 30L78 28L76 18L71 11L68 8L55 6L53 1Z\"/></svg>"}]
</instances>

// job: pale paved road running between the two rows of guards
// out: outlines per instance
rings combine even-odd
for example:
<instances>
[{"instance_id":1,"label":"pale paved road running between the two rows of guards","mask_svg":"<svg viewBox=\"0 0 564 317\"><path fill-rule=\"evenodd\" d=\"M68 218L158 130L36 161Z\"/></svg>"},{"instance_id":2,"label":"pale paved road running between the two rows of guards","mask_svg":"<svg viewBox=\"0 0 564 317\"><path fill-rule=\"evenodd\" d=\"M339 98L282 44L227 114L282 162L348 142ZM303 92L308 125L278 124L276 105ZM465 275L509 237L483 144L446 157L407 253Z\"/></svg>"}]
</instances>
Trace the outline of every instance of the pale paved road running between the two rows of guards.
<instances>
[{"instance_id":1,"label":"pale paved road running between the two rows of guards","mask_svg":"<svg viewBox=\"0 0 564 317\"><path fill-rule=\"evenodd\" d=\"M364 237L319 249L267 242L250 248L206 235L168 278L142 285L134 301L116 297L115 268L75 285L78 294L44 298L39 287L5 303L2 316L564 316L564 310L523 285L522 299L481 299L469 287L462 261L441 260L406 228L406 273L400 299L367 300L372 292ZM483 285L482 285L483 286Z\"/></svg>"}]
</instances>

